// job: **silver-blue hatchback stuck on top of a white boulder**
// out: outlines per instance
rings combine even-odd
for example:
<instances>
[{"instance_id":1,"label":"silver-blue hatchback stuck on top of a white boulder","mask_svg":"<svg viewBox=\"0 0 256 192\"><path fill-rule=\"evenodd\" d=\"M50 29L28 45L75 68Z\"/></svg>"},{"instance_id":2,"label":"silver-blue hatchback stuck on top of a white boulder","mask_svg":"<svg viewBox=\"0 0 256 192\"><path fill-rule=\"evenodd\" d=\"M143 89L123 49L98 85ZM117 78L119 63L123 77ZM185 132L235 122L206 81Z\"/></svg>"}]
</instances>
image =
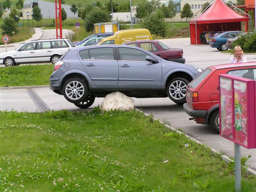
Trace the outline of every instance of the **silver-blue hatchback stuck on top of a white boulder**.
<instances>
[{"instance_id":1,"label":"silver-blue hatchback stuck on top of a white boulder","mask_svg":"<svg viewBox=\"0 0 256 192\"><path fill-rule=\"evenodd\" d=\"M186 102L186 87L201 68L164 60L129 45L73 48L55 63L50 88L79 108L120 91L135 98L169 97Z\"/></svg>"}]
</instances>

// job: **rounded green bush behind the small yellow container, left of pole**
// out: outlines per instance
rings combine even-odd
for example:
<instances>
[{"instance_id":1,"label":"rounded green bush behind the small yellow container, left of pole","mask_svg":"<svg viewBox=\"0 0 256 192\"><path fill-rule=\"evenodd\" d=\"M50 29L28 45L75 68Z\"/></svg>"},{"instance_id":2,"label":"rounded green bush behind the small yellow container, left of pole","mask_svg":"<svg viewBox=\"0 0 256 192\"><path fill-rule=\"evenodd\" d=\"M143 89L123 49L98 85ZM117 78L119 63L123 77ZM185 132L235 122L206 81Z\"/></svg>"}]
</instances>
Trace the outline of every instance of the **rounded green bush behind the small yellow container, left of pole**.
<instances>
[{"instance_id":1,"label":"rounded green bush behind the small yellow container, left of pole","mask_svg":"<svg viewBox=\"0 0 256 192\"><path fill-rule=\"evenodd\" d=\"M92 31L94 23L109 22L111 20L110 12L106 9L94 7L85 16L85 30L87 32Z\"/></svg>"}]
</instances>

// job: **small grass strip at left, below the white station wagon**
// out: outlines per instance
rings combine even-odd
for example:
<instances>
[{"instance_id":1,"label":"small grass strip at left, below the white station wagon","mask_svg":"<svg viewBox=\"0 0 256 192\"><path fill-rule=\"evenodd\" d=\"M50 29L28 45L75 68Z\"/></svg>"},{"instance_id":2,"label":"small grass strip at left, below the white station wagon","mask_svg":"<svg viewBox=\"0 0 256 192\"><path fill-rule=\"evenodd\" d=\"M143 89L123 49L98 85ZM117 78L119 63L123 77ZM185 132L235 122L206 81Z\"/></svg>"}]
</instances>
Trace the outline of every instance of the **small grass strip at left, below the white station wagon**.
<instances>
[{"instance_id":1,"label":"small grass strip at left, below the white station wagon","mask_svg":"<svg viewBox=\"0 0 256 192\"><path fill-rule=\"evenodd\" d=\"M0 87L49 85L53 65L26 65L0 68Z\"/></svg>"}]
</instances>

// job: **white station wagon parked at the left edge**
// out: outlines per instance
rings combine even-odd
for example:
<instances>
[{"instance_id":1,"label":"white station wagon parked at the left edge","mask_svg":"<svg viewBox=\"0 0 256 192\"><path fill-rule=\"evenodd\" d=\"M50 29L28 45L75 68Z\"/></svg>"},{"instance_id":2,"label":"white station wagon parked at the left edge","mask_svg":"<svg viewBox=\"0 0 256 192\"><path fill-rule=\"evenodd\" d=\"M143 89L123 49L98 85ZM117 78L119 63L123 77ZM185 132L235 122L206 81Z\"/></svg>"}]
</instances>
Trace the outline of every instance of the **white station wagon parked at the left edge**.
<instances>
[{"instance_id":1,"label":"white station wagon parked at the left edge","mask_svg":"<svg viewBox=\"0 0 256 192\"><path fill-rule=\"evenodd\" d=\"M75 45L69 39L33 40L16 50L0 53L0 64L10 67L20 63L56 63L72 47Z\"/></svg>"}]
</instances>

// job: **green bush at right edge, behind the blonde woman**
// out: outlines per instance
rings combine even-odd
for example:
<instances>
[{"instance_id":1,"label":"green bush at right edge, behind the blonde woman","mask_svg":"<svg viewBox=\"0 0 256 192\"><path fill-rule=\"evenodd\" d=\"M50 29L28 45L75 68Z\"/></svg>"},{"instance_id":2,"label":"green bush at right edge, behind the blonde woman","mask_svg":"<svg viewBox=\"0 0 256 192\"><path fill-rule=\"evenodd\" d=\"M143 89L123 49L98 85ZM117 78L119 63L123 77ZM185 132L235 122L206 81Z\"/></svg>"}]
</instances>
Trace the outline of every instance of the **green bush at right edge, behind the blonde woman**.
<instances>
[{"instance_id":1,"label":"green bush at right edge, behind the blonde woman","mask_svg":"<svg viewBox=\"0 0 256 192\"><path fill-rule=\"evenodd\" d=\"M256 52L256 32L240 36L233 42L233 47L239 45L245 52Z\"/></svg>"}]
</instances>

